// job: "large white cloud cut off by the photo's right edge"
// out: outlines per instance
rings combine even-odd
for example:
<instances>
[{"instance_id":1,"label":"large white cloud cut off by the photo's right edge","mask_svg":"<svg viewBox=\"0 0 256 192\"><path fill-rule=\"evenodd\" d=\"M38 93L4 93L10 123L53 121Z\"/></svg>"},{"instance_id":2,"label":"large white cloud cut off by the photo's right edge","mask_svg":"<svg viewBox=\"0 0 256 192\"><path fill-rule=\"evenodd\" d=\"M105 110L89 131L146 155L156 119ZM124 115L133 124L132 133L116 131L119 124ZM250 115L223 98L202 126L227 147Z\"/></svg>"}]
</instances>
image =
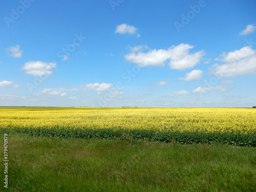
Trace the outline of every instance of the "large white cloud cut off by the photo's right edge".
<instances>
[{"instance_id":1,"label":"large white cloud cut off by the photo's right edge","mask_svg":"<svg viewBox=\"0 0 256 192\"><path fill-rule=\"evenodd\" d=\"M236 77L245 74L256 73L256 50L250 46L243 47L229 53L220 55L222 58L216 58L217 61L223 61L223 65L217 63L211 66L210 73L220 77Z\"/></svg>"}]
</instances>

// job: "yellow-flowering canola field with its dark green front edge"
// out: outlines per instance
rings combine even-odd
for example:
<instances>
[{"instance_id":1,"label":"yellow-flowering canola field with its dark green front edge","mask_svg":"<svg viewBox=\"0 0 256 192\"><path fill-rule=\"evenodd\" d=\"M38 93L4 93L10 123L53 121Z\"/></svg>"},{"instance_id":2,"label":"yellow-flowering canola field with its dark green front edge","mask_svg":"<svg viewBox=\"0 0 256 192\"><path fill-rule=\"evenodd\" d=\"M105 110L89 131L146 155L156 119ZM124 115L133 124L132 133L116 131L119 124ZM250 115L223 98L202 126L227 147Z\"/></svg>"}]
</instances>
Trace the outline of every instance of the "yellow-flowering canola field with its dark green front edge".
<instances>
[{"instance_id":1,"label":"yellow-flowering canola field with its dark green front edge","mask_svg":"<svg viewBox=\"0 0 256 192\"><path fill-rule=\"evenodd\" d=\"M0 108L3 133L256 146L256 109Z\"/></svg>"}]
</instances>

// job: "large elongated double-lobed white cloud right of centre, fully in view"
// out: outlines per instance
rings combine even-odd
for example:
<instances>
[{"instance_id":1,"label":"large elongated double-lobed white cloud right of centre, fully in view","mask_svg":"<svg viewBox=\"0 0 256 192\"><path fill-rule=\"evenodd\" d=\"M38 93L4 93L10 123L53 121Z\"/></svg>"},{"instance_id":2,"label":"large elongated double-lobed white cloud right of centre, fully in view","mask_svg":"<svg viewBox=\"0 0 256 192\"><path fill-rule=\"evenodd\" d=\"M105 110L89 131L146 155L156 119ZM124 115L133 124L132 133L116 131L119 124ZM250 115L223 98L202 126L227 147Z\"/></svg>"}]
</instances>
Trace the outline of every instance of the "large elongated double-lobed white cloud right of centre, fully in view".
<instances>
[{"instance_id":1,"label":"large elongated double-lobed white cloud right of centre, fully in view","mask_svg":"<svg viewBox=\"0 0 256 192\"><path fill-rule=\"evenodd\" d=\"M168 50L150 50L147 53L139 51L138 53L128 53L124 55L127 61L136 63L139 67L145 66L164 66L164 62L167 59L169 61L169 67L176 70L185 70L187 68L195 67L202 57L205 55L204 51L198 51L195 53L189 53L189 49L194 48L188 44L180 44L178 46L172 46Z\"/></svg>"}]
</instances>

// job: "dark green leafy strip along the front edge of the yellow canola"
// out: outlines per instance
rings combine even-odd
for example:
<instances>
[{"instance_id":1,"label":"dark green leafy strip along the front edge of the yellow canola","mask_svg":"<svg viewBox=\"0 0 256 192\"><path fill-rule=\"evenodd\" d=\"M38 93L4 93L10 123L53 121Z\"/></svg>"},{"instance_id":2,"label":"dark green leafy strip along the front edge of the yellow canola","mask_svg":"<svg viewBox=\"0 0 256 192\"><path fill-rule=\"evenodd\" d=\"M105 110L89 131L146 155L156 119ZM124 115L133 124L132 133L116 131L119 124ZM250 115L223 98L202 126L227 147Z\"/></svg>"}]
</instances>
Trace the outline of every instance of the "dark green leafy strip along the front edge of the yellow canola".
<instances>
[{"instance_id":1,"label":"dark green leafy strip along the front edge of the yellow canola","mask_svg":"<svg viewBox=\"0 0 256 192\"><path fill-rule=\"evenodd\" d=\"M3 132L3 130L2 130ZM256 133L204 133L204 132L156 132L149 130L127 131L119 129L19 129L18 127L5 130L5 133L24 133L32 136L57 138L94 138L94 139L121 139L121 140L150 140L160 142L177 142L181 144L223 143L238 146L256 146Z\"/></svg>"}]
</instances>

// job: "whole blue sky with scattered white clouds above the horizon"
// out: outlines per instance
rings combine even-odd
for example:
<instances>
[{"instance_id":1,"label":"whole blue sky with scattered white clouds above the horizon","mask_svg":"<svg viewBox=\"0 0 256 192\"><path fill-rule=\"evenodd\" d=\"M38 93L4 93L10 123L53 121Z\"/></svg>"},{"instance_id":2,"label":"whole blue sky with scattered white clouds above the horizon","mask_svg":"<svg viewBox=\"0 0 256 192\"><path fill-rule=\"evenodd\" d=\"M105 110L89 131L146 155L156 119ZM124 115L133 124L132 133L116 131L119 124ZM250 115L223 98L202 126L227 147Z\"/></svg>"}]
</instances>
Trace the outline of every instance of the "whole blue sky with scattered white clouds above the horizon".
<instances>
[{"instance_id":1,"label":"whole blue sky with scattered white clouds above the horizon","mask_svg":"<svg viewBox=\"0 0 256 192\"><path fill-rule=\"evenodd\" d=\"M256 105L256 2L2 1L0 105Z\"/></svg>"}]
</instances>

